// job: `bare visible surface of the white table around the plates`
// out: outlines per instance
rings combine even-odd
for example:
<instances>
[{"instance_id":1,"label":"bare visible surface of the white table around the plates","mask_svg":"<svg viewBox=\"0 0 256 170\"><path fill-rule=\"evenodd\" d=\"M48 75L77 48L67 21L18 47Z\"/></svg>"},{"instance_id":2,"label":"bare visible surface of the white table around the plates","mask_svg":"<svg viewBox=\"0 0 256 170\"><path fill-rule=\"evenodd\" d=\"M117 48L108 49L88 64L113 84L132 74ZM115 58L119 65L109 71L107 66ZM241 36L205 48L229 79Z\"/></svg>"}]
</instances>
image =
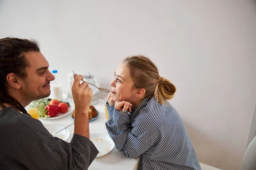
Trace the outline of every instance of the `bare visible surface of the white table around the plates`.
<instances>
[{"instance_id":1,"label":"bare visible surface of the white table around the plates","mask_svg":"<svg viewBox=\"0 0 256 170\"><path fill-rule=\"evenodd\" d=\"M89 122L90 133L106 133L108 134L105 122L107 121L105 114L105 101L99 99L97 105L93 105L97 111L99 111L99 117L91 122ZM71 114L64 116L59 119L40 119L45 127L47 126L67 126L72 123L74 120L71 118ZM70 136L67 139L67 142L70 142L74 133L74 125L68 127L70 131ZM89 170L132 170L136 164L137 159L128 159L124 152L119 152L115 147L111 150L110 153L105 156L98 157L94 159L93 163L90 165Z\"/></svg>"}]
</instances>

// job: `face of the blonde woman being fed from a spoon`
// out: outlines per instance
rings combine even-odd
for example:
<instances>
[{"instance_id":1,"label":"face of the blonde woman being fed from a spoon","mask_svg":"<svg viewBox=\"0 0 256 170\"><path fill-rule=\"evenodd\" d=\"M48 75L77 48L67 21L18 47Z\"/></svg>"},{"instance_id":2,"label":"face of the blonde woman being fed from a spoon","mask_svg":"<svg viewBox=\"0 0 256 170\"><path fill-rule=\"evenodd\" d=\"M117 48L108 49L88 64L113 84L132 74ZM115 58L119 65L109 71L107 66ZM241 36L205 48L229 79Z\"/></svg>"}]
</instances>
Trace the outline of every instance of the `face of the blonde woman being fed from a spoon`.
<instances>
[{"instance_id":1,"label":"face of the blonde woman being fed from a spoon","mask_svg":"<svg viewBox=\"0 0 256 170\"><path fill-rule=\"evenodd\" d=\"M116 68L115 79L110 83L111 98L113 101L127 101L133 100L134 81L130 76L130 69L125 63L121 63Z\"/></svg>"}]
</instances>

